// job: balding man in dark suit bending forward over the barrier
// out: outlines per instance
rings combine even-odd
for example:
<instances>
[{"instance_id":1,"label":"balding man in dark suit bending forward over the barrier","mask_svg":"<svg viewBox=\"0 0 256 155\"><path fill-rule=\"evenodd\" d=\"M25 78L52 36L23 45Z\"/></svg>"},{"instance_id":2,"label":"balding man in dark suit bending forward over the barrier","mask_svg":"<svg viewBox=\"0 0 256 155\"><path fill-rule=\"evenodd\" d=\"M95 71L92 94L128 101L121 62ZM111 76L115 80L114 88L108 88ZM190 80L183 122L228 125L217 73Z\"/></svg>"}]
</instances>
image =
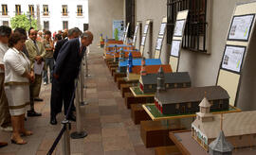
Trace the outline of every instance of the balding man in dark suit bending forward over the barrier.
<instances>
[{"instance_id":1,"label":"balding man in dark suit bending forward over the barrier","mask_svg":"<svg viewBox=\"0 0 256 155\"><path fill-rule=\"evenodd\" d=\"M56 125L56 115L60 112L58 102L64 100L64 114L66 114L72 95L74 93L75 78L78 77L82 57L86 50L86 46L93 41L93 34L90 31L82 33L80 38L72 39L64 43L59 52L58 58L53 70L53 80L51 89L51 117L50 124ZM69 113L67 119L75 121L72 112Z\"/></svg>"}]
</instances>

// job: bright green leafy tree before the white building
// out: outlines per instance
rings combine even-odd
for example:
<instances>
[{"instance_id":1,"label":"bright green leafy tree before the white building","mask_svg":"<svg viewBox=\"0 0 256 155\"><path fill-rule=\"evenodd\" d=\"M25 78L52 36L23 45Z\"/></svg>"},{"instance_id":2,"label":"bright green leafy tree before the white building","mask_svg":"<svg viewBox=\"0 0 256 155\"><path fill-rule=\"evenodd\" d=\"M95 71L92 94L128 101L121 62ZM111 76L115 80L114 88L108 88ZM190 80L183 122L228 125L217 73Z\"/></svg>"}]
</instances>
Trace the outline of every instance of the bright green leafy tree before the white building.
<instances>
[{"instance_id":1,"label":"bright green leafy tree before the white building","mask_svg":"<svg viewBox=\"0 0 256 155\"><path fill-rule=\"evenodd\" d=\"M31 26L37 29L37 21L31 16ZM22 27L26 30L30 27L29 18L25 15L16 15L15 17L12 17L10 19L10 26L12 29L15 29L16 27Z\"/></svg>"}]
</instances>

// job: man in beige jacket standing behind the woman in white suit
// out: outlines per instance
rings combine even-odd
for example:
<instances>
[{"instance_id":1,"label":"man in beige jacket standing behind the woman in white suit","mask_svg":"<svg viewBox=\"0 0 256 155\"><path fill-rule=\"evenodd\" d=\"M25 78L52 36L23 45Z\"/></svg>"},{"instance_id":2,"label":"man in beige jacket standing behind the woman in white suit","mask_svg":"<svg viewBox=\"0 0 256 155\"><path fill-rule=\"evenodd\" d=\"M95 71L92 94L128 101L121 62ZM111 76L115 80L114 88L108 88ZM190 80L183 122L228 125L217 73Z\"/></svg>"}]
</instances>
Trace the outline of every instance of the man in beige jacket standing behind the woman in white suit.
<instances>
[{"instance_id":1,"label":"man in beige jacket standing behind the woman in white suit","mask_svg":"<svg viewBox=\"0 0 256 155\"><path fill-rule=\"evenodd\" d=\"M46 49L43 43L38 42L37 30L33 27L28 30L29 39L26 42L27 53L31 63L31 68L34 68L35 63L41 64L46 57ZM43 71L42 71L43 72ZM27 116L41 116L41 113L34 111L34 100L43 101L39 98L39 93L42 83L42 72L40 74L35 74L35 81L30 83L30 106L31 110L27 112Z\"/></svg>"}]
</instances>

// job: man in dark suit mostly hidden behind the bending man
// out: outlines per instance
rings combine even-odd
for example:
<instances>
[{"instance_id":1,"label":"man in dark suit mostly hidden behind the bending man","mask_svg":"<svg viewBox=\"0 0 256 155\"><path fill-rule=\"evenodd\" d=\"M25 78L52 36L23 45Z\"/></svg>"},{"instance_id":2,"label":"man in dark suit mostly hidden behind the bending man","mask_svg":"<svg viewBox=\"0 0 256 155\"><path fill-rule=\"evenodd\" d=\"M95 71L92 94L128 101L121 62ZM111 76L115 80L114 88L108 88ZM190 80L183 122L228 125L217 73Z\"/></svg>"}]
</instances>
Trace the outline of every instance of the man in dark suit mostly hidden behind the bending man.
<instances>
[{"instance_id":1,"label":"man in dark suit mostly hidden behind the bending man","mask_svg":"<svg viewBox=\"0 0 256 155\"><path fill-rule=\"evenodd\" d=\"M79 28L71 28L68 30L67 33L67 38L64 38L61 41L58 41L55 45L55 49L54 49L54 53L53 53L53 58L54 60L57 60L59 51L61 50L62 46L64 45L64 43L66 43L68 40L74 39L74 38L78 38L80 35L80 29Z\"/></svg>"}]
</instances>

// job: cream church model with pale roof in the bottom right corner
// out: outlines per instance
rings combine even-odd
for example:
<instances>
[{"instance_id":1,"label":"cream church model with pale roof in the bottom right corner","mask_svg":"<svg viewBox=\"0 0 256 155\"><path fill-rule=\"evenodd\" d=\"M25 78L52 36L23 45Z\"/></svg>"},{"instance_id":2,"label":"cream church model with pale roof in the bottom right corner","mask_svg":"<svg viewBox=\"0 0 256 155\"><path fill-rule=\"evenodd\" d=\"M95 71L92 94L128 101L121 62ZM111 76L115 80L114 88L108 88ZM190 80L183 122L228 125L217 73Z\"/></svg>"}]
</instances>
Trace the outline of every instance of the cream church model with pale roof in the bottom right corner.
<instances>
[{"instance_id":1,"label":"cream church model with pale roof in the bottom right corner","mask_svg":"<svg viewBox=\"0 0 256 155\"><path fill-rule=\"evenodd\" d=\"M229 155L232 146L256 146L256 111L212 114L206 97L199 106L200 112L196 113L192 123L192 138L208 150L210 155Z\"/></svg>"}]
</instances>

